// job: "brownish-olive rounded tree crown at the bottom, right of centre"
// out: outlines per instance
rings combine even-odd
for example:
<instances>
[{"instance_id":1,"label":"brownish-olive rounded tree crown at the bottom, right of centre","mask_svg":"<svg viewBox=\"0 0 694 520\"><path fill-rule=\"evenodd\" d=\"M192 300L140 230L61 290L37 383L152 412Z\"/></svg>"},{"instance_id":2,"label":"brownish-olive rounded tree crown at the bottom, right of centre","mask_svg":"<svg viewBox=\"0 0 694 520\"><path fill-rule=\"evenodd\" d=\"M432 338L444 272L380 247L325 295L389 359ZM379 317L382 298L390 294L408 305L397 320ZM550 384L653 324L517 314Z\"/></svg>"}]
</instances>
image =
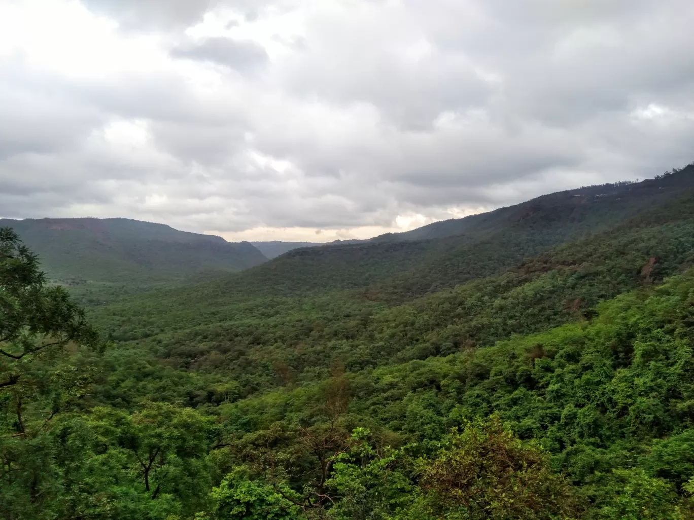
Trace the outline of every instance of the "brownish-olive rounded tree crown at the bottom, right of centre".
<instances>
[{"instance_id":1,"label":"brownish-olive rounded tree crown at the bottom, right of centre","mask_svg":"<svg viewBox=\"0 0 694 520\"><path fill-rule=\"evenodd\" d=\"M424 460L420 485L434 517L465 520L577 516L572 487L498 417L454 432L437 458Z\"/></svg>"}]
</instances>

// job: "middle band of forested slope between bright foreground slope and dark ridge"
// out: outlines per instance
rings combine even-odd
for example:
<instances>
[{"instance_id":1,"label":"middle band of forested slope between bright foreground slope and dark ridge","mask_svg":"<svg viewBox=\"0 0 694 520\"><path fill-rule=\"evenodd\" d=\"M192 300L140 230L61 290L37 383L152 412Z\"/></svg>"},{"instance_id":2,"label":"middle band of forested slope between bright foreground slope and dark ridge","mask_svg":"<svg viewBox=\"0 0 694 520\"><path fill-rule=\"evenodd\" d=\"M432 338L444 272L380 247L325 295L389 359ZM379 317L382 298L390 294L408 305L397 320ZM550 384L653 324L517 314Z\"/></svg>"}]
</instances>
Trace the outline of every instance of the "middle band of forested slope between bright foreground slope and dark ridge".
<instances>
[{"instance_id":1,"label":"middle band of forested slope between bright foreground slope and dark ridge","mask_svg":"<svg viewBox=\"0 0 694 520\"><path fill-rule=\"evenodd\" d=\"M282 381L278 366L311 381L335 363L365 370L584 319L600 301L693 264L689 196L497 275L481 266L465 284L398 304L374 298L380 286L291 296L282 288L239 294L214 281L123 300L92 319L171 366L226 374L246 394Z\"/></svg>"}]
</instances>

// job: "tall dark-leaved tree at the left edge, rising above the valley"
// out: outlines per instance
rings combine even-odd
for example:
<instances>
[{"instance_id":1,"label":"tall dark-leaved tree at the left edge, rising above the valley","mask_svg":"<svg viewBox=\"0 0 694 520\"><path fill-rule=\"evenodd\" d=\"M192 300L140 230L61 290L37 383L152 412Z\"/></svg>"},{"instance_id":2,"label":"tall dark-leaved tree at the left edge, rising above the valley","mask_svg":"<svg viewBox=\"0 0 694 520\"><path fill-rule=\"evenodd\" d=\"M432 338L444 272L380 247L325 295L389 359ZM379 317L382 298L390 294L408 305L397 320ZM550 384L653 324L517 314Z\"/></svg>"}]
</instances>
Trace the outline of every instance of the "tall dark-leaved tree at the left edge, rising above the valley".
<instances>
[{"instance_id":1,"label":"tall dark-leaved tree at the left edge, rising above the valley","mask_svg":"<svg viewBox=\"0 0 694 520\"><path fill-rule=\"evenodd\" d=\"M53 418L81 408L90 367L65 352L99 337L67 291L46 284L37 256L0 229L0 518L44 518L62 489Z\"/></svg>"}]
</instances>

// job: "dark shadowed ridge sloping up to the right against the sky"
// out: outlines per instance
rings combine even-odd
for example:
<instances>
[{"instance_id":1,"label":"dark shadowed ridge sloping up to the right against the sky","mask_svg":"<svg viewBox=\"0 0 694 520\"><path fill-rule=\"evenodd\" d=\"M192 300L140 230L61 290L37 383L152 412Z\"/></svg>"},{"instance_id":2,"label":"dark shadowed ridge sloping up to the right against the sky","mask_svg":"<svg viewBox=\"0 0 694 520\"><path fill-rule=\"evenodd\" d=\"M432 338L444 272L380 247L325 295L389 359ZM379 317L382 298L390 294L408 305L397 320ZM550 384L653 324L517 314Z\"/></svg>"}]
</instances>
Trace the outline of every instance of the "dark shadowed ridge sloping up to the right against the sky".
<instances>
[{"instance_id":1,"label":"dark shadowed ridge sloping up to the right against the sky","mask_svg":"<svg viewBox=\"0 0 694 520\"><path fill-rule=\"evenodd\" d=\"M451 222L466 232L414 241L300 248L220 280L226 293L296 295L361 288L400 301L489 276L566 241L611 229L694 192L694 166L639 183L553 193Z\"/></svg>"}]
</instances>

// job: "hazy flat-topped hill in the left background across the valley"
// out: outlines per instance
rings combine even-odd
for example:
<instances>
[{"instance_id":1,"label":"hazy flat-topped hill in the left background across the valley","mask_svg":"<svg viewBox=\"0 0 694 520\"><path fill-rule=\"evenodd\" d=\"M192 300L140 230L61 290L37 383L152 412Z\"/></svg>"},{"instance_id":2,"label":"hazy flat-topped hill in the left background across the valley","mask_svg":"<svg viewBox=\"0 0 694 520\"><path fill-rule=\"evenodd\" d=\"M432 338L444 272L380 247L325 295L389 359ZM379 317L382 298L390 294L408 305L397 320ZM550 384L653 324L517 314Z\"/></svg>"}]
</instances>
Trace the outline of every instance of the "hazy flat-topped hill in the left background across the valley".
<instances>
[{"instance_id":1,"label":"hazy flat-topped hill in the left background across the valley","mask_svg":"<svg viewBox=\"0 0 694 520\"><path fill-rule=\"evenodd\" d=\"M251 243L128 218L0 219L63 283L152 284L203 271L237 271L266 261Z\"/></svg>"}]
</instances>

